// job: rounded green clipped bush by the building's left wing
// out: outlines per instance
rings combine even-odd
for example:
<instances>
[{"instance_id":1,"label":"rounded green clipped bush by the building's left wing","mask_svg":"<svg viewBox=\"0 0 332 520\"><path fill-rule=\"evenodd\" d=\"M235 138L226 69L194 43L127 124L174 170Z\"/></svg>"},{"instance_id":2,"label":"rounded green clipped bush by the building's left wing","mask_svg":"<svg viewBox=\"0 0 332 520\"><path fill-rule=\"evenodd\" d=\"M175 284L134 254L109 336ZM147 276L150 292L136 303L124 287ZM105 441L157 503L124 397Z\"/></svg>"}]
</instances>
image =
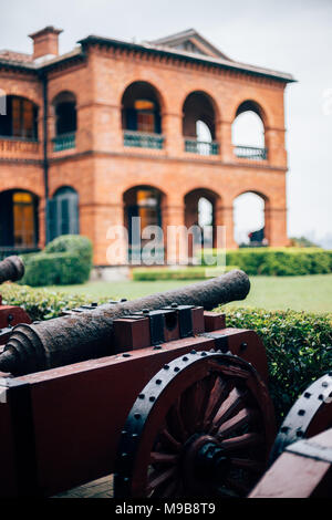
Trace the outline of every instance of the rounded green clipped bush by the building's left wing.
<instances>
[{"instance_id":1,"label":"rounded green clipped bush by the building's left wing","mask_svg":"<svg viewBox=\"0 0 332 520\"><path fill-rule=\"evenodd\" d=\"M92 243L86 237L65 235L55 238L42 252L23 256L25 274L20 283L68 285L85 283L92 268Z\"/></svg>"}]
</instances>

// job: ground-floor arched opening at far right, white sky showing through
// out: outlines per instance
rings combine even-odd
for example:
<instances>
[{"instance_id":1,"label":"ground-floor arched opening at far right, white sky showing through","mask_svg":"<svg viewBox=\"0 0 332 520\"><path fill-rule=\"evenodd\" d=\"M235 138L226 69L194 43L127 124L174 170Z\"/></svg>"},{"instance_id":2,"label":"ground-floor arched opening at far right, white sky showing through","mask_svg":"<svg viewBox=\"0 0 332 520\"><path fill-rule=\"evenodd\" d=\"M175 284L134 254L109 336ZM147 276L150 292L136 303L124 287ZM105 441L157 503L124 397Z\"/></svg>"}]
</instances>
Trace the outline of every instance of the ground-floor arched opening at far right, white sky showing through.
<instances>
[{"instance_id":1,"label":"ground-floor arched opening at far right, white sky showing through","mask_svg":"<svg viewBox=\"0 0 332 520\"><path fill-rule=\"evenodd\" d=\"M266 230L266 200L248 191L234 201L234 238L239 247L268 246Z\"/></svg>"}]
</instances>

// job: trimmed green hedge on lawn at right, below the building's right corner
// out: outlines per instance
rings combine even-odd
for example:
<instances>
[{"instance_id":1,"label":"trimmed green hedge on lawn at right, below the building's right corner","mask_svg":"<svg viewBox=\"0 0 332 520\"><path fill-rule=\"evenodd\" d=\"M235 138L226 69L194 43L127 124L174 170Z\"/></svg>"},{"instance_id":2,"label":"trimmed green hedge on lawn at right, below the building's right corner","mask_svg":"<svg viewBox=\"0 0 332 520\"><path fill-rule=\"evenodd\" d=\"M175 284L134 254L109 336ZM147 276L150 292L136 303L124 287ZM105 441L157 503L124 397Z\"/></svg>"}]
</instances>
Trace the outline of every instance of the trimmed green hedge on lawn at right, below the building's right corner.
<instances>
[{"instance_id":1,"label":"trimmed green hedge on lawn at right, below the building's right corner","mask_svg":"<svg viewBox=\"0 0 332 520\"><path fill-rule=\"evenodd\" d=\"M201 263L224 257L224 251L205 250ZM226 264L238 266L247 274L272 277L323 274L332 271L332 250L319 248L239 248L226 251Z\"/></svg>"}]
</instances>

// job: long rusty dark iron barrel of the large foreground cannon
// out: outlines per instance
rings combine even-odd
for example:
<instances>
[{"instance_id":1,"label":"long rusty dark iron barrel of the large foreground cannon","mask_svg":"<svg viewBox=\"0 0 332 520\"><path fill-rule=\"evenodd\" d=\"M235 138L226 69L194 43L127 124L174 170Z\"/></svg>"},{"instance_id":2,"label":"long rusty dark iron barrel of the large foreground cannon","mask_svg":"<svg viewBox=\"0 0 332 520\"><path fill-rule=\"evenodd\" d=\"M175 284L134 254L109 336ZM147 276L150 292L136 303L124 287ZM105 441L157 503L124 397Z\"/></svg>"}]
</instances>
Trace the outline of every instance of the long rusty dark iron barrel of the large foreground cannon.
<instances>
[{"instance_id":1,"label":"long rusty dark iron barrel of the large foreground cannon","mask_svg":"<svg viewBox=\"0 0 332 520\"><path fill-rule=\"evenodd\" d=\"M103 304L77 316L66 315L13 329L0 371L13 375L64 366L111 355L113 320L143 309L157 310L176 302L211 310L219 304L243 300L250 289L248 275L234 270L208 281L116 304Z\"/></svg>"}]
</instances>

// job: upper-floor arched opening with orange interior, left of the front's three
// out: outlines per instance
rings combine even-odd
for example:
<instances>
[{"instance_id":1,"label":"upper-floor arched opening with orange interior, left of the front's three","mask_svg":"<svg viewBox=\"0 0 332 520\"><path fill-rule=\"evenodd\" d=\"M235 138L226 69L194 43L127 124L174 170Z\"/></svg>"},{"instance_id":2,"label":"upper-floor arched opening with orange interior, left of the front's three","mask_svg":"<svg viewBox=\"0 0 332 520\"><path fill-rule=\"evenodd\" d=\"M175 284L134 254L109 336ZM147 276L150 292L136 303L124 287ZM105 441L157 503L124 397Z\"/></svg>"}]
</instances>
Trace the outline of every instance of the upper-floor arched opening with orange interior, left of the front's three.
<instances>
[{"instance_id":1,"label":"upper-floor arched opening with orange interior, left of the front's three","mask_svg":"<svg viewBox=\"0 0 332 520\"><path fill-rule=\"evenodd\" d=\"M132 83L122 97L124 145L162 148L160 96L149 83Z\"/></svg>"}]
</instances>

